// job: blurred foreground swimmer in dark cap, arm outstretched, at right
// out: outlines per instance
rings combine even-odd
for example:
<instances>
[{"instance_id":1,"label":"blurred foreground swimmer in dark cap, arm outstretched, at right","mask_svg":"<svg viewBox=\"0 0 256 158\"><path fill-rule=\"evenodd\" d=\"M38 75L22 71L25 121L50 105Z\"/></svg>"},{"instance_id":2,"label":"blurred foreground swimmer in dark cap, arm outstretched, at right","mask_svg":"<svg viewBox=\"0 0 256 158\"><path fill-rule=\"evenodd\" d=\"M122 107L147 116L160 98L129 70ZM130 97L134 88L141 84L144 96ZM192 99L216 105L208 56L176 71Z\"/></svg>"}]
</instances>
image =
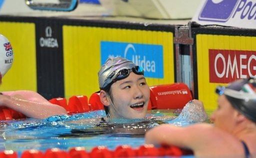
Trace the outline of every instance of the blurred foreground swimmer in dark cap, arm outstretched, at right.
<instances>
[{"instance_id":1,"label":"blurred foreground swimmer in dark cap, arm outstretched, at right","mask_svg":"<svg viewBox=\"0 0 256 158\"><path fill-rule=\"evenodd\" d=\"M237 80L216 93L214 125L160 125L146 133L145 143L190 149L202 158L256 158L256 79Z\"/></svg>"}]
</instances>

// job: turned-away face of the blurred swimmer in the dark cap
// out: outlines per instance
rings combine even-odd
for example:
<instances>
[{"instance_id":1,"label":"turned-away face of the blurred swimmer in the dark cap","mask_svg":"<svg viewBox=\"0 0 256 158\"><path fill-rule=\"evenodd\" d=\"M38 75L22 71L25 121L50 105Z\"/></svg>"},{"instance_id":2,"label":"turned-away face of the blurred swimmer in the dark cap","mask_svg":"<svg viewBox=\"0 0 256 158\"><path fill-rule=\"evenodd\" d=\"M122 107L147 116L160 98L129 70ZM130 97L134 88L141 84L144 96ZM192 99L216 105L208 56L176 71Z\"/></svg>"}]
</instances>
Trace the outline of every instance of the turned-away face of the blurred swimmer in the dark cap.
<instances>
[{"instance_id":1,"label":"turned-away face of the blurred swimmer in the dark cap","mask_svg":"<svg viewBox=\"0 0 256 158\"><path fill-rule=\"evenodd\" d=\"M232 107L224 95L218 98L218 108L211 115L215 127L232 133L236 126L238 112Z\"/></svg>"}]
</instances>

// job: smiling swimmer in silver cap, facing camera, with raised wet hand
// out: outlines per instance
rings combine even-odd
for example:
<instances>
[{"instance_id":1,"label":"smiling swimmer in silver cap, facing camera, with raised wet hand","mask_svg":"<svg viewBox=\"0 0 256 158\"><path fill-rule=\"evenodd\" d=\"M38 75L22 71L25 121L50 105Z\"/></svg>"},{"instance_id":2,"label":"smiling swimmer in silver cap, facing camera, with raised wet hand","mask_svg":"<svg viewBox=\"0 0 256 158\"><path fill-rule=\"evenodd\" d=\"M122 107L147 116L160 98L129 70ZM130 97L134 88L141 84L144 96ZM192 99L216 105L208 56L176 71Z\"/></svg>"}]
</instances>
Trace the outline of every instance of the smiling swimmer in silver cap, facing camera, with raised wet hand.
<instances>
[{"instance_id":1,"label":"smiling swimmer in silver cap, facing camera, with raised wet hand","mask_svg":"<svg viewBox=\"0 0 256 158\"><path fill-rule=\"evenodd\" d=\"M101 118L99 123L99 118L71 121L70 123L92 124L95 127L82 130L74 129L63 137L120 133L130 134L132 137L143 137L148 129L175 118L172 116L157 118L146 116L150 90L144 77L143 68L130 60L121 57L108 58L98 72L98 83L100 100L108 118ZM184 113L193 112L192 115L189 115L190 121L202 122L207 118L202 103L197 100L189 102L186 109L187 111L182 111L180 116L187 116ZM141 120L136 120L134 123L129 122L128 119Z\"/></svg>"}]
</instances>

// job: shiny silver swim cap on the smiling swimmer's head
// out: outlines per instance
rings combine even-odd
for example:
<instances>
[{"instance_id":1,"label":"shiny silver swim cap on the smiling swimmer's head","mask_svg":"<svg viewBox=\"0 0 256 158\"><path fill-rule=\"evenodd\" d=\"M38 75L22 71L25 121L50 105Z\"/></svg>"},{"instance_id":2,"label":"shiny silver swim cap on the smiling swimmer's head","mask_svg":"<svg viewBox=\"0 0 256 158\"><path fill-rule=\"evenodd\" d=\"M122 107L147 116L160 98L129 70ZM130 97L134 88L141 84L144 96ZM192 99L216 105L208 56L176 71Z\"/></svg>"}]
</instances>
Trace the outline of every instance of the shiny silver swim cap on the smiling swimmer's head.
<instances>
[{"instance_id":1,"label":"shiny silver swim cap on the smiling swimmer's head","mask_svg":"<svg viewBox=\"0 0 256 158\"><path fill-rule=\"evenodd\" d=\"M114 75L121 69L131 69L136 66L132 61L122 57L108 58L98 72L99 88L105 88L115 78Z\"/></svg>"}]
</instances>

